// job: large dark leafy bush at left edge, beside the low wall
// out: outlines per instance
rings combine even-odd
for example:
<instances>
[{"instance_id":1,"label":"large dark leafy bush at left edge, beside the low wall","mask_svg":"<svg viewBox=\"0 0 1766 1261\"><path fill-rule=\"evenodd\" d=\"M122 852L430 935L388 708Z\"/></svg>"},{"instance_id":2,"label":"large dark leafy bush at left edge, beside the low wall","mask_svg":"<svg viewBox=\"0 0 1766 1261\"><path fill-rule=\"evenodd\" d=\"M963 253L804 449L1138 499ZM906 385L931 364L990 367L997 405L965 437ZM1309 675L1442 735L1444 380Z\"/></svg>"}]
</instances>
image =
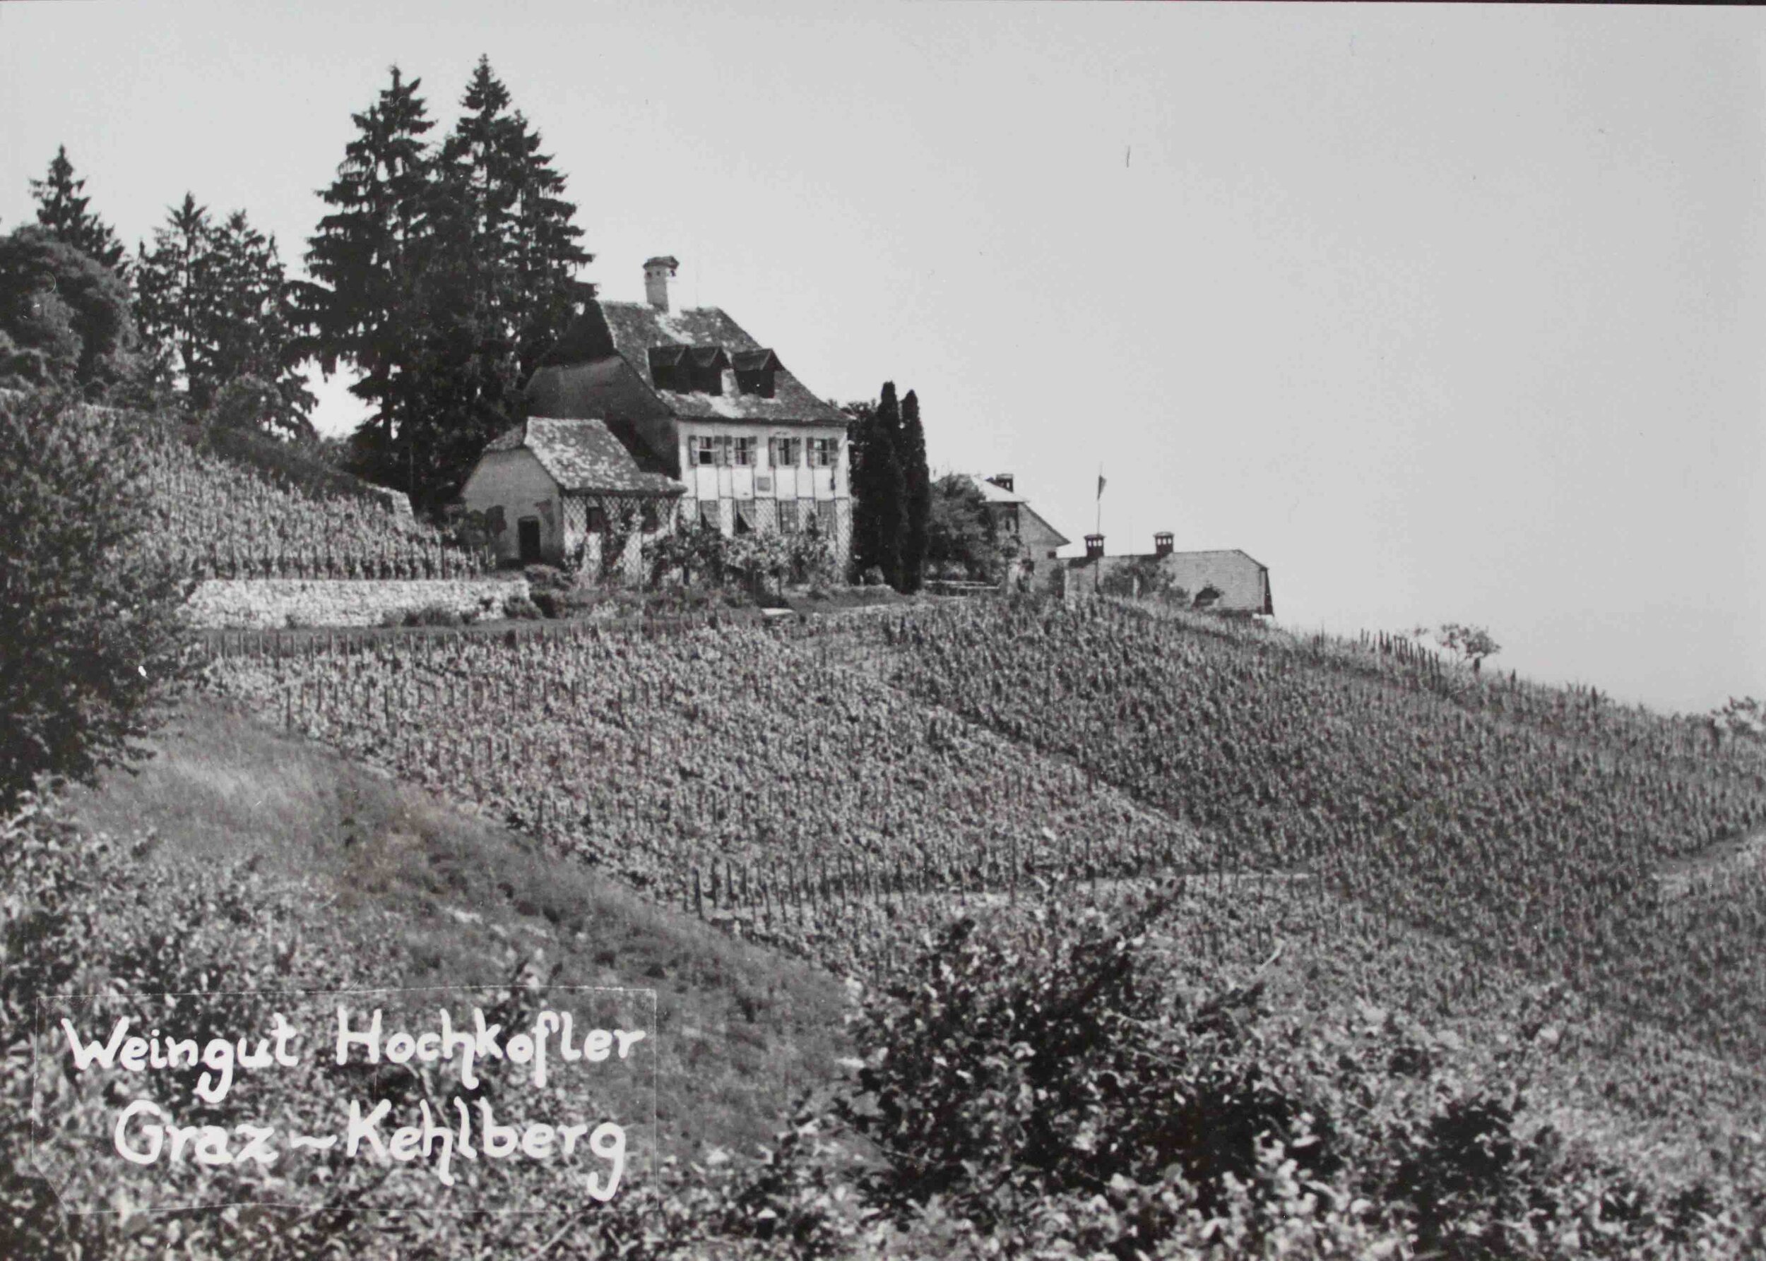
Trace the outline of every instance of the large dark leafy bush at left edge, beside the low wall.
<instances>
[{"instance_id":1,"label":"large dark leafy bush at left edge, beside the low wall","mask_svg":"<svg viewBox=\"0 0 1766 1261\"><path fill-rule=\"evenodd\" d=\"M0 811L136 756L184 673L178 574L143 546L148 424L0 394Z\"/></svg>"}]
</instances>

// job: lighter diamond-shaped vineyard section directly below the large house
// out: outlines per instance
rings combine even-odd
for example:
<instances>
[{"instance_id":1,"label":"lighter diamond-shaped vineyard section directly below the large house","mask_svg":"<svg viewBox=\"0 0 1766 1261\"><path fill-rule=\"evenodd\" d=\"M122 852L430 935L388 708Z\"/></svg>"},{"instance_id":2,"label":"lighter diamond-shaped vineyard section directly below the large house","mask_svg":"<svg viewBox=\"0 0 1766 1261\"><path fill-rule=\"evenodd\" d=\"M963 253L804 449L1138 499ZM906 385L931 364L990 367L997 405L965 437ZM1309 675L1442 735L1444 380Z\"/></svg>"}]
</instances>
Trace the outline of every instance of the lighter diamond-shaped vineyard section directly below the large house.
<instances>
[{"instance_id":1,"label":"lighter diamond-shaped vineyard section directly below the large house","mask_svg":"<svg viewBox=\"0 0 1766 1261\"><path fill-rule=\"evenodd\" d=\"M660 901L842 968L892 957L952 895L1210 862L1164 812L763 629L313 639L210 675Z\"/></svg>"}]
</instances>

